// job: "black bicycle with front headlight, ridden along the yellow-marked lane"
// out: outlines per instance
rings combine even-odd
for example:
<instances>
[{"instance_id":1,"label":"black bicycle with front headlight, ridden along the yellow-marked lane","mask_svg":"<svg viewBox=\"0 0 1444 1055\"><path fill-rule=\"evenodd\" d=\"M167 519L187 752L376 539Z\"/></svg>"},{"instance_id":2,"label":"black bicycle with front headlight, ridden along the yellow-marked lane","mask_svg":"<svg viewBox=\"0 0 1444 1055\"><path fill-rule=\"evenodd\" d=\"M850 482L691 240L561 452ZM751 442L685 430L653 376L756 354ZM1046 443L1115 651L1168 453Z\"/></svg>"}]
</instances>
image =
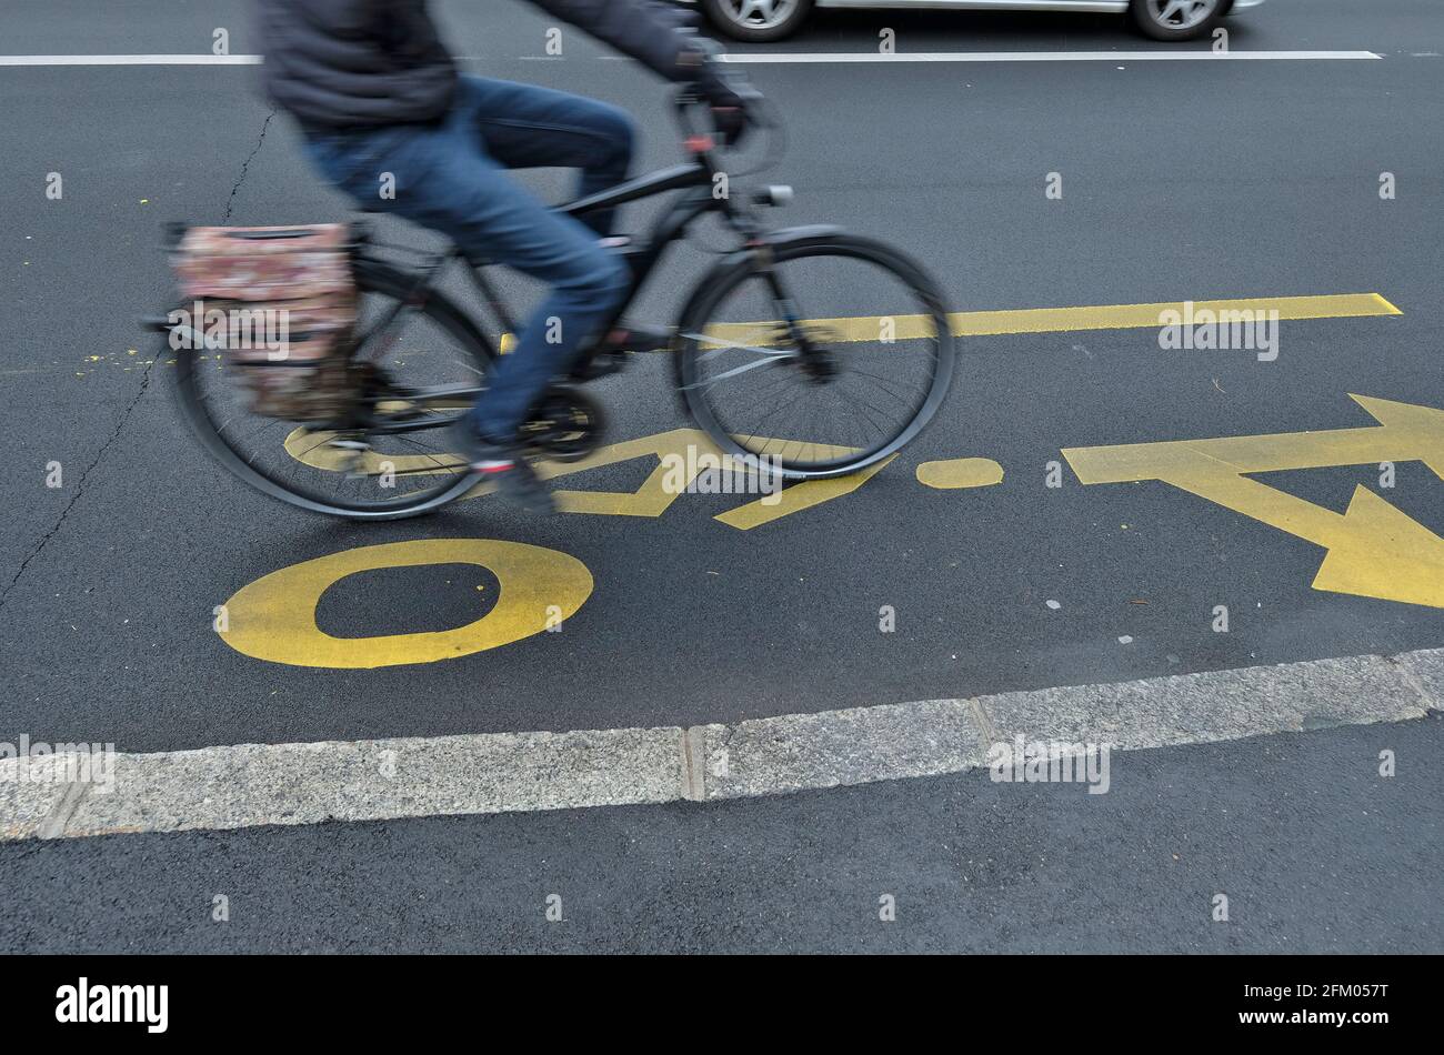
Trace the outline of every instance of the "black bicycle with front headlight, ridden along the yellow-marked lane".
<instances>
[{"instance_id":1,"label":"black bicycle with front headlight, ridden along the yellow-marked lane","mask_svg":"<svg viewBox=\"0 0 1444 1055\"><path fill-rule=\"evenodd\" d=\"M622 250L631 289L606 333L630 332L627 307L703 215L718 216L735 245L697 281L664 341L598 342L572 377L553 384L523 430L530 450L563 462L586 458L602 413L578 385L631 355L660 351L673 356L687 413L734 465L819 479L888 458L947 394L953 346L941 292L914 261L871 238L835 227L768 229L761 209L784 203L790 189L739 196L736 180L751 173L729 176L718 166L712 137L690 120L697 101L686 91L674 98L686 165L557 208L580 215L679 192L650 234ZM287 423L251 413L224 352L205 348L176 352L180 406L201 442L273 498L355 520L414 517L477 486L448 450L445 429L466 413L517 330L484 274L487 261L452 247L403 267L377 250L416 250L378 245L362 225L358 232L352 362L364 365L365 382L345 420ZM440 289L458 260L495 316L491 332Z\"/></svg>"}]
</instances>

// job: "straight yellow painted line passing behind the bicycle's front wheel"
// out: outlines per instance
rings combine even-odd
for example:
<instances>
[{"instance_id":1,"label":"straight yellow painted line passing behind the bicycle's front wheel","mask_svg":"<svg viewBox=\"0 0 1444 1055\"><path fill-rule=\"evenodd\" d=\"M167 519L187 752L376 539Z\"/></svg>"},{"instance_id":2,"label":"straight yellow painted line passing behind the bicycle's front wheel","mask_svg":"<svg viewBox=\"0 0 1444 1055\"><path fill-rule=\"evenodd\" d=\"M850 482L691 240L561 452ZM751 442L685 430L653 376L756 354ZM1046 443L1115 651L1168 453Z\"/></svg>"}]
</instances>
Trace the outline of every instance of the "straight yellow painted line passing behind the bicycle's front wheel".
<instances>
[{"instance_id":1,"label":"straight yellow painted line passing behind the bicycle's front wheel","mask_svg":"<svg viewBox=\"0 0 1444 1055\"><path fill-rule=\"evenodd\" d=\"M1378 293L1337 293L1304 297L1246 297L1238 300L1194 300L1200 312L1278 312L1285 319L1354 319L1402 312ZM947 323L953 336L996 336L1005 333L1066 333L1086 329L1152 329L1164 325L1165 312L1186 312L1186 303L1093 305L1084 307L1024 307L995 312L953 312ZM934 333L928 315L865 315L836 319L809 319L803 325L826 332L839 342L917 341ZM885 326L891 326L891 333ZM777 322L716 323L706 335L719 343L765 348L775 341Z\"/></svg>"}]
</instances>

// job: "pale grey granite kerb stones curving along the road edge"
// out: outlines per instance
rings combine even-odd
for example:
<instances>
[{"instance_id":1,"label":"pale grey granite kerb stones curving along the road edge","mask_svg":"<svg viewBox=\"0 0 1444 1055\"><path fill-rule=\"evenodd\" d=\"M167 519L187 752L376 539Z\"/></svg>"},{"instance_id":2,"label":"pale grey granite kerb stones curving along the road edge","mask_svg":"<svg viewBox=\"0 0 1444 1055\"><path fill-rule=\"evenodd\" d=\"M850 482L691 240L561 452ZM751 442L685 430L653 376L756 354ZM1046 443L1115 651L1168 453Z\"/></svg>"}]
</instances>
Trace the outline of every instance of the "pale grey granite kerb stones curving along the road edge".
<instances>
[{"instance_id":1,"label":"pale grey granite kerb stones curving along the road edge","mask_svg":"<svg viewBox=\"0 0 1444 1055\"><path fill-rule=\"evenodd\" d=\"M680 729L488 733L0 761L0 841L716 801L983 766L993 743L1116 750L1422 717L1444 649L921 700ZM1126 779L1115 762L1113 781ZM108 789L107 789L108 788Z\"/></svg>"}]
</instances>

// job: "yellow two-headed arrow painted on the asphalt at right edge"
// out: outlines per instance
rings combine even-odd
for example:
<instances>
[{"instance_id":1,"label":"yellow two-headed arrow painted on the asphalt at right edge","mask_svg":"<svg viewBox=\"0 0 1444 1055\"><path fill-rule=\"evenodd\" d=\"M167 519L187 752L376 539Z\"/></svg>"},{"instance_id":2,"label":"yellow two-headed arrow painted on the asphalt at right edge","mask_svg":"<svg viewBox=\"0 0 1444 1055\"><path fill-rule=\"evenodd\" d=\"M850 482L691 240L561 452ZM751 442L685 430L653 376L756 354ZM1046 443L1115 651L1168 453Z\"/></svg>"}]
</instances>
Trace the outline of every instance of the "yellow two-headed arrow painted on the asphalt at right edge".
<instances>
[{"instance_id":1,"label":"yellow two-headed arrow painted on the asphalt at right edge","mask_svg":"<svg viewBox=\"0 0 1444 1055\"><path fill-rule=\"evenodd\" d=\"M1313 586L1444 608L1444 540L1386 501L1356 488L1343 514L1249 479L1246 473L1424 462L1444 479L1444 411L1352 397L1370 429L1235 436L1210 440L1071 447L1083 483L1157 479L1328 550Z\"/></svg>"}]
</instances>

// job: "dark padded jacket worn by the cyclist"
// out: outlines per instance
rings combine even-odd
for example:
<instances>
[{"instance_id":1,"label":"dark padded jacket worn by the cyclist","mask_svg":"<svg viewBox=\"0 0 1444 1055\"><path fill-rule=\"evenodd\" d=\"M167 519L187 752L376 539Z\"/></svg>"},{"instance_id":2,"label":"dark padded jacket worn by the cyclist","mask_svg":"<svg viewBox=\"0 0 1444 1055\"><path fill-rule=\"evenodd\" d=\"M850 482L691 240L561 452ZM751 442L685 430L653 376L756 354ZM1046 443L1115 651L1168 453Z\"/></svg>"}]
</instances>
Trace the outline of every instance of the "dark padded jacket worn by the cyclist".
<instances>
[{"instance_id":1,"label":"dark padded jacket worn by the cyclist","mask_svg":"<svg viewBox=\"0 0 1444 1055\"><path fill-rule=\"evenodd\" d=\"M671 81L699 75L702 53L651 0L530 1ZM435 121L451 107L456 64L426 0L257 0L257 9L266 94L302 126Z\"/></svg>"}]
</instances>

